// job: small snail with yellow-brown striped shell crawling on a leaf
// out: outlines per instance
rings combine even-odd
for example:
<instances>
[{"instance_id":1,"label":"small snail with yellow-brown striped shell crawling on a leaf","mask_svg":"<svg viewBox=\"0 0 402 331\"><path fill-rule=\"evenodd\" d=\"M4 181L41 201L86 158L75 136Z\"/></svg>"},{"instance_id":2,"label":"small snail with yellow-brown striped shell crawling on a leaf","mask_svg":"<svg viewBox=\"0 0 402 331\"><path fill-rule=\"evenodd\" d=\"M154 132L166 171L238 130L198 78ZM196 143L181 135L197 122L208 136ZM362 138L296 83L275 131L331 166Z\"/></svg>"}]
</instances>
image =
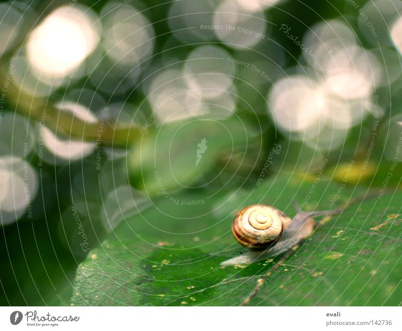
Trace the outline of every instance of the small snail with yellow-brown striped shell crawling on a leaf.
<instances>
[{"instance_id":1,"label":"small snail with yellow-brown striped shell crawling on a leaf","mask_svg":"<svg viewBox=\"0 0 402 331\"><path fill-rule=\"evenodd\" d=\"M303 211L291 219L284 212L267 204L253 204L240 210L232 223L237 242L247 248L244 254L221 263L221 266L249 264L277 256L309 237L317 222L316 216L339 213L332 211Z\"/></svg>"}]
</instances>

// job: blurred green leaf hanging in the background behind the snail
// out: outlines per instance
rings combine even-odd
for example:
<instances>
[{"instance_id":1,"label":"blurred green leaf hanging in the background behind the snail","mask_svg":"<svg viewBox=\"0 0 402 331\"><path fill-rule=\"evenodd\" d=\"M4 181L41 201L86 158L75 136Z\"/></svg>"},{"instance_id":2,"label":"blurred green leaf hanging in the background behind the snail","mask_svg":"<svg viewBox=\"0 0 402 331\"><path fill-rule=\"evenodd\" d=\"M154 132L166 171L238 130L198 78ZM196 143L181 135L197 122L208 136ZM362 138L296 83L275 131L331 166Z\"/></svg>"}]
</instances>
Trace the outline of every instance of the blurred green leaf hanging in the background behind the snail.
<instances>
[{"instance_id":1,"label":"blurred green leaf hanging in the background behind the snail","mask_svg":"<svg viewBox=\"0 0 402 331\"><path fill-rule=\"evenodd\" d=\"M150 131L130 153L132 184L149 195L191 187L219 158L250 149L250 130L245 125L237 117L221 121L194 118ZM223 163L216 173L221 173L225 165Z\"/></svg>"}]
</instances>

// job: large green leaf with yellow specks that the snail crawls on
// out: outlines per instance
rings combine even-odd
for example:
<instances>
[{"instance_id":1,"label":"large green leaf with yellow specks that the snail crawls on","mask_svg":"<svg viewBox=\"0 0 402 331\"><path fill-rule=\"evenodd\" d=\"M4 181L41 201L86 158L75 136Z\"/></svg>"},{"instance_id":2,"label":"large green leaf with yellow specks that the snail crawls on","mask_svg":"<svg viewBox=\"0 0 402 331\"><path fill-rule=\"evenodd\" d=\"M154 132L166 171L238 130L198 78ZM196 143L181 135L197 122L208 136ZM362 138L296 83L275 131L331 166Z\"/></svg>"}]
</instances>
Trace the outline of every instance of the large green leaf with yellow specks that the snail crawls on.
<instances>
[{"instance_id":1,"label":"large green leaf with yellow specks that the snail crawls on","mask_svg":"<svg viewBox=\"0 0 402 331\"><path fill-rule=\"evenodd\" d=\"M335 209L361 193L326 181L312 189L313 182L282 176L251 191L211 196L199 189L154 201L80 264L70 303L239 305L280 257L219 268L242 250L231 234L234 213L248 204L268 203L293 216L293 199L306 210ZM401 192L388 188L381 198L371 196L326 218L249 304L400 304L401 199Z\"/></svg>"}]
</instances>

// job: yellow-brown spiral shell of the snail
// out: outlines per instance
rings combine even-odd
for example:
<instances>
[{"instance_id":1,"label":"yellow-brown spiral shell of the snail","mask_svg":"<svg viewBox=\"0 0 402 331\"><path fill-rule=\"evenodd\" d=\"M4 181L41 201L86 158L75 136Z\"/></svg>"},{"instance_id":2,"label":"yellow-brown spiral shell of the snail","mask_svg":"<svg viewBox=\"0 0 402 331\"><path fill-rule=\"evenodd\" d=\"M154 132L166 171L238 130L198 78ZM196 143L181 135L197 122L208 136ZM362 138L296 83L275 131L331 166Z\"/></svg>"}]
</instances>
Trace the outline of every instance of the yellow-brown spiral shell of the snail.
<instances>
[{"instance_id":1,"label":"yellow-brown spiral shell of the snail","mask_svg":"<svg viewBox=\"0 0 402 331\"><path fill-rule=\"evenodd\" d=\"M240 210L232 223L236 240L250 248L265 248L279 238L291 222L285 213L266 204L253 204Z\"/></svg>"}]
</instances>

